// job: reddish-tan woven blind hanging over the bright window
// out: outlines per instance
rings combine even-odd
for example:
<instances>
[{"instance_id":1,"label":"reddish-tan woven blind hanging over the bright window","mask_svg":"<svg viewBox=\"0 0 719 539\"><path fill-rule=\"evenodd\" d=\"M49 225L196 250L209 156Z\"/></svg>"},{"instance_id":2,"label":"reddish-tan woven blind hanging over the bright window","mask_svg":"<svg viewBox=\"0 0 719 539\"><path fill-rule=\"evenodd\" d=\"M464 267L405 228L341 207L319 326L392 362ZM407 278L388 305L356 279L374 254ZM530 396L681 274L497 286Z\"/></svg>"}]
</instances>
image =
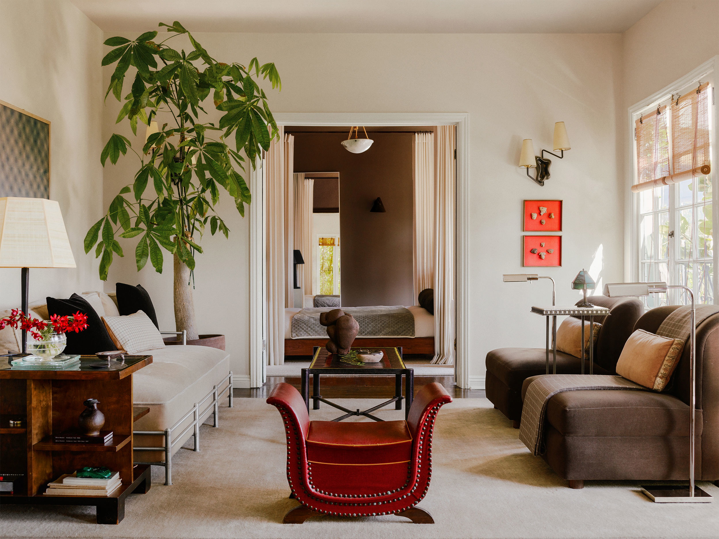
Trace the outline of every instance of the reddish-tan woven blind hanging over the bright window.
<instances>
[{"instance_id":1,"label":"reddish-tan woven blind hanging over the bright window","mask_svg":"<svg viewBox=\"0 0 719 539\"><path fill-rule=\"evenodd\" d=\"M658 107L636 120L634 193L711 172L709 91L709 83L702 84L684 96L672 98L671 107Z\"/></svg>"}]
</instances>

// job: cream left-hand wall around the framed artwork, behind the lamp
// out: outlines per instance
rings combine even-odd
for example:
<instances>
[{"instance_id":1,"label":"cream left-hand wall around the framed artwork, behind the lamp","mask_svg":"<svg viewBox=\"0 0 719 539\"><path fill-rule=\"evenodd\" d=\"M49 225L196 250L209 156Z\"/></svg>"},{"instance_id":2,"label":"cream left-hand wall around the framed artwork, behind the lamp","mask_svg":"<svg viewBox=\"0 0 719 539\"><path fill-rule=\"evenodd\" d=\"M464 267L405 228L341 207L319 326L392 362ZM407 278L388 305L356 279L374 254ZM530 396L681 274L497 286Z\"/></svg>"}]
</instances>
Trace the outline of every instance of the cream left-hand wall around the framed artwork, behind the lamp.
<instances>
[{"instance_id":1,"label":"cream left-hand wall around the framed artwork, behind the lamp","mask_svg":"<svg viewBox=\"0 0 719 539\"><path fill-rule=\"evenodd\" d=\"M74 270L30 270L30 301L101 290L83 239L104 213L101 30L69 1L0 1L0 99L52 122L50 198L60 203ZM19 307L20 270L0 270L0 308Z\"/></svg>"}]
</instances>

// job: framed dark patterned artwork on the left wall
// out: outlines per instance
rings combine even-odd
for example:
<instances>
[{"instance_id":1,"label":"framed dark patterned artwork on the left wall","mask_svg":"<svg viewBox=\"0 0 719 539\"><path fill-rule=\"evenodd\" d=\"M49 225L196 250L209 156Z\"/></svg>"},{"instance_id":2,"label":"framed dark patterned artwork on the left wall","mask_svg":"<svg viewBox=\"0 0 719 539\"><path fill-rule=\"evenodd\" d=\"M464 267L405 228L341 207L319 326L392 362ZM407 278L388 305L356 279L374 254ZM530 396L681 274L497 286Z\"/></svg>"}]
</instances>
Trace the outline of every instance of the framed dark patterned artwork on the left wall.
<instances>
[{"instance_id":1,"label":"framed dark patterned artwork on the left wall","mask_svg":"<svg viewBox=\"0 0 719 539\"><path fill-rule=\"evenodd\" d=\"M50 198L50 121L0 101L0 197Z\"/></svg>"}]
</instances>

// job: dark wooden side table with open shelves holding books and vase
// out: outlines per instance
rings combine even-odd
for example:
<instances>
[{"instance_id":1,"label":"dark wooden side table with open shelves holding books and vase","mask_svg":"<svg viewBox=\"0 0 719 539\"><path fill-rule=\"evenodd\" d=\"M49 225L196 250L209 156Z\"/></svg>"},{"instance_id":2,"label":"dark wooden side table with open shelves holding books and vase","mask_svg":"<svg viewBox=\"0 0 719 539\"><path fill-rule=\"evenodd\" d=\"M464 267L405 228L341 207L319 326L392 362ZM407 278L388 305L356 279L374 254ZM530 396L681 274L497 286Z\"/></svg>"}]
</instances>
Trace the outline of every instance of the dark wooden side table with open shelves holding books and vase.
<instances>
[{"instance_id":1,"label":"dark wooden side table with open shelves holding books and vase","mask_svg":"<svg viewBox=\"0 0 719 539\"><path fill-rule=\"evenodd\" d=\"M12 358L11 358L12 359ZM98 524L118 524L125 498L150 489L150 466L132 464L132 423L142 409L132 407L132 374L152 363L152 356L125 356L124 366L93 369L96 356L81 356L68 370L19 370L0 366L1 472L24 474L14 493L0 494L0 505L94 505ZM96 398L105 415L105 444L55 443L53 433L77 427L83 401ZM22 428L9 428L6 417L24 418ZM119 471L122 487L109 497L45 496L47 483L83 466Z\"/></svg>"}]
</instances>

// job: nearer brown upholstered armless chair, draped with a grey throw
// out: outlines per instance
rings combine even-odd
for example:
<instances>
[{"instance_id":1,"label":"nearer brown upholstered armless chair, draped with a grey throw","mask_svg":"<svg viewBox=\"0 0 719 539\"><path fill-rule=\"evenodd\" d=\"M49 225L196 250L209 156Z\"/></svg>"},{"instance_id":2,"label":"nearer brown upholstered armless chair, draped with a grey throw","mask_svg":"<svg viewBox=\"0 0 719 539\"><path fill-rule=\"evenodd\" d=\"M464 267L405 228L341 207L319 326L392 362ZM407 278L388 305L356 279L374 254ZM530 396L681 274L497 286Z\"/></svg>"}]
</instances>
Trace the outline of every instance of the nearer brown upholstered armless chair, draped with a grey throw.
<instances>
[{"instance_id":1,"label":"nearer brown upholstered armless chair, draped with a grey throw","mask_svg":"<svg viewBox=\"0 0 719 539\"><path fill-rule=\"evenodd\" d=\"M656 333L677 305L649 310L635 329ZM666 390L570 391L549 400L544 460L569 487L587 479L689 476L689 346ZM719 313L697 327L697 479L719 479ZM525 380L522 396L536 377Z\"/></svg>"}]
</instances>

